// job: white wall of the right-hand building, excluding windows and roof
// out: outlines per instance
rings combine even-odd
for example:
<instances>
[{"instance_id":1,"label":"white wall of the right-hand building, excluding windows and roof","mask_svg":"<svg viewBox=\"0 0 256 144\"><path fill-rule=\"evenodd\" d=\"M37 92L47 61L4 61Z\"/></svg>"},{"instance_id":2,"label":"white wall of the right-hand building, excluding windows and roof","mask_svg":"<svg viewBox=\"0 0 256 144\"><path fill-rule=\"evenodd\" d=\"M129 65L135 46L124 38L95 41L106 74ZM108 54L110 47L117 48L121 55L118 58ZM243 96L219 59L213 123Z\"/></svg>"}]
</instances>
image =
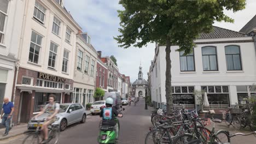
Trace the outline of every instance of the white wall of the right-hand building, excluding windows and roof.
<instances>
[{"instance_id":1,"label":"white wall of the right-hand building, excluding windows and roof","mask_svg":"<svg viewBox=\"0 0 256 144\"><path fill-rule=\"evenodd\" d=\"M206 41L226 41L226 40L251 40L252 37L243 38L226 38L226 39L203 39L195 42ZM227 71L224 46L239 45L241 51L241 71ZM201 47L216 46L218 71L203 71ZM153 101L166 102L165 98L165 46L157 47L158 55L154 57L153 70L151 75L151 95ZM236 86L252 85L256 83L256 57L254 43L228 43L228 44L200 44L194 49L195 55L195 71L181 72L179 63L179 52L175 50L178 46L171 46L171 74L172 86L195 86L195 89L201 89L201 86L229 86L230 103L237 103ZM156 50L156 51L158 51ZM160 64L160 69L158 68ZM156 68L158 69L158 77L156 77ZM159 97L159 88L161 99Z\"/></svg>"}]
</instances>

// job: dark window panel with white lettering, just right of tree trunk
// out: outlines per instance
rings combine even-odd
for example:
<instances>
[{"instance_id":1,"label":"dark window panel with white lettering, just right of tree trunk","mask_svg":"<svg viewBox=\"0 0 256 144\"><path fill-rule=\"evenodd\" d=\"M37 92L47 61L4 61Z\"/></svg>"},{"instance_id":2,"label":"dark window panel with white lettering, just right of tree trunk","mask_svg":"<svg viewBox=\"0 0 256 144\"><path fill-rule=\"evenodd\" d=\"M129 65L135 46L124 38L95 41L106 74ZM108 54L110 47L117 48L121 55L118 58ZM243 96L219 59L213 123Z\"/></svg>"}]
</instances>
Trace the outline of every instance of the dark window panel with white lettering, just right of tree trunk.
<instances>
[{"instance_id":1,"label":"dark window panel with white lettering, just right of tree trunk","mask_svg":"<svg viewBox=\"0 0 256 144\"><path fill-rule=\"evenodd\" d=\"M174 104L195 104L193 94L172 94Z\"/></svg>"}]
</instances>

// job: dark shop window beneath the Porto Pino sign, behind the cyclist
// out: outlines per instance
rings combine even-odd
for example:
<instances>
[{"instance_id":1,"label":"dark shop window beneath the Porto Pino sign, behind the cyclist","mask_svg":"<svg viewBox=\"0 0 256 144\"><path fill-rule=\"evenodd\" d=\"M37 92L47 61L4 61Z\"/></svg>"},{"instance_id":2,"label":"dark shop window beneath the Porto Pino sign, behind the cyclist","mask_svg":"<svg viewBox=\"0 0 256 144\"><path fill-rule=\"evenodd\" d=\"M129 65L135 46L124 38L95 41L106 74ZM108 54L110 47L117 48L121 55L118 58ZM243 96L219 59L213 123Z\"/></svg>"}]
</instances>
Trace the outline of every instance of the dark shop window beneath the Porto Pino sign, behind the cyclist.
<instances>
[{"instance_id":1,"label":"dark shop window beneath the Porto Pino sign, behind the cyclist","mask_svg":"<svg viewBox=\"0 0 256 144\"><path fill-rule=\"evenodd\" d=\"M40 112L46 104L49 103L48 98L50 94L55 95L55 102L61 102L61 94L60 93L40 93L36 92L34 95L34 112Z\"/></svg>"}]
</instances>

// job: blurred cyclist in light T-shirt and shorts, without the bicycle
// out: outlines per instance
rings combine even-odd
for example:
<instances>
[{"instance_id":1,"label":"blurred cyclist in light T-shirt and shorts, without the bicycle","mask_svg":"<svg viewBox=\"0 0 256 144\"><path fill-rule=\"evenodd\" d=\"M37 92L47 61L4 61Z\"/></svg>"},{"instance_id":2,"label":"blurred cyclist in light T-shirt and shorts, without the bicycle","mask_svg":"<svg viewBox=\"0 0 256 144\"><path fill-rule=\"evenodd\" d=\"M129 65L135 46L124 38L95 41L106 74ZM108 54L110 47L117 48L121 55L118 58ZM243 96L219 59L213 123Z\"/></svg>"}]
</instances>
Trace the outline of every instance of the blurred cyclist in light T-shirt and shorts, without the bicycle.
<instances>
[{"instance_id":1,"label":"blurred cyclist in light T-shirt and shorts, without the bicycle","mask_svg":"<svg viewBox=\"0 0 256 144\"><path fill-rule=\"evenodd\" d=\"M37 118L38 116L43 115L43 113L47 110L48 110L48 118L46 118L46 121L44 122L42 127L44 140L41 143L48 142L48 126L56 121L56 114L60 110L60 104L55 103L54 94L49 95L49 104L45 105L44 109L40 113L38 113L38 115L34 116L34 118Z\"/></svg>"}]
</instances>

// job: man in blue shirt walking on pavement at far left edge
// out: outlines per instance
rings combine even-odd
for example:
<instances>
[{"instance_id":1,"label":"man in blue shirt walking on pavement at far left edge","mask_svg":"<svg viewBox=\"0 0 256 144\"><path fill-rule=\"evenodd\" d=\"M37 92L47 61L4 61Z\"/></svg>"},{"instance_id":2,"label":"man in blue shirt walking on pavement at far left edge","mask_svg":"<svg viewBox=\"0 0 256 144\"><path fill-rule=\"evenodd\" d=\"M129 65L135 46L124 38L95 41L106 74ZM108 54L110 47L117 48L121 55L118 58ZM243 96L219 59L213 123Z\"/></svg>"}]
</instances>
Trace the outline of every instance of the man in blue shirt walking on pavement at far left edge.
<instances>
[{"instance_id":1,"label":"man in blue shirt walking on pavement at far left edge","mask_svg":"<svg viewBox=\"0 0 256 144\"><path fill-rule=\"evenodd\" d=\"M9 98L4 98L4 104L3 104L2 112L1 112L2 124L5 127L5 133L3 134L3 136L7 136L11 129L10 119L11 119L11 117L13 117L13 111L14 111L13 103L11 103L11 101L9 101Z\"/></svg>"}]
</instances>

